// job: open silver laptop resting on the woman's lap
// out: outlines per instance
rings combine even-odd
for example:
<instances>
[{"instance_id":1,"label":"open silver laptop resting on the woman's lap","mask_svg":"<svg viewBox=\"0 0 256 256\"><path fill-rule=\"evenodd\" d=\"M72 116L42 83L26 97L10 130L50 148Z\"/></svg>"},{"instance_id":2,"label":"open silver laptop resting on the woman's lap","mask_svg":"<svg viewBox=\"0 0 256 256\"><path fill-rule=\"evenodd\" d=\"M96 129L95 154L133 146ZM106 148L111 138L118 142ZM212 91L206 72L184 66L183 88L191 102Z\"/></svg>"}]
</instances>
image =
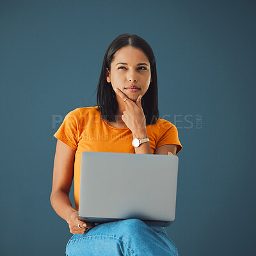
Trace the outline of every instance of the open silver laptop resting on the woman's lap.
<instances>
[{"instance_id":1,"label":"open silver laptop resting on the woman's lap","mask_svg":"<svg viewBox=\"0 0 256 256\"><path fill-rule=\"evenodd\" d=\"M168 227L175 219L177 156L82 152L79 219L137 218Z\"/></svg>"}]
</instances>

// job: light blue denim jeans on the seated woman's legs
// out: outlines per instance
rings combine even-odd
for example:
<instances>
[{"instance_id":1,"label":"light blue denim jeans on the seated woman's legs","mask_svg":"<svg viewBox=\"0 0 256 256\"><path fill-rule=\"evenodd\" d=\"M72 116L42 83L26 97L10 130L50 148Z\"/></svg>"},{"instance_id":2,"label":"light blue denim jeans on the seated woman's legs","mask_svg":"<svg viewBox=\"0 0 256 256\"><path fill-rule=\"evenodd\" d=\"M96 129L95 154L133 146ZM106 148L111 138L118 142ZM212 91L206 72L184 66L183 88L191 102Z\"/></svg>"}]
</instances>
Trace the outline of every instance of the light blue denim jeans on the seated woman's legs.
<instances>
[{"instance_id":1,"label":"light blue denim jeans on the seated woman's legs","mask_svg":"<svg viewBox=\"0 0 256 256\"><path fill-rule=\"evenodd\" d=\"M96 224L95 224L96 225ZM163 227L148 226L138 219L101 223L74 234L67 256L177 256L177 247Z\"/></svg>"}]
</instances>

